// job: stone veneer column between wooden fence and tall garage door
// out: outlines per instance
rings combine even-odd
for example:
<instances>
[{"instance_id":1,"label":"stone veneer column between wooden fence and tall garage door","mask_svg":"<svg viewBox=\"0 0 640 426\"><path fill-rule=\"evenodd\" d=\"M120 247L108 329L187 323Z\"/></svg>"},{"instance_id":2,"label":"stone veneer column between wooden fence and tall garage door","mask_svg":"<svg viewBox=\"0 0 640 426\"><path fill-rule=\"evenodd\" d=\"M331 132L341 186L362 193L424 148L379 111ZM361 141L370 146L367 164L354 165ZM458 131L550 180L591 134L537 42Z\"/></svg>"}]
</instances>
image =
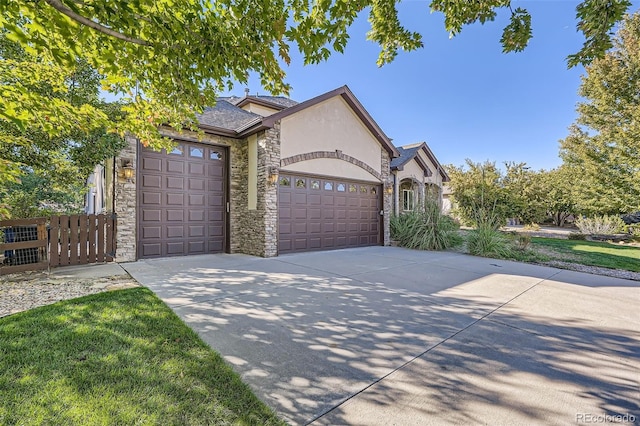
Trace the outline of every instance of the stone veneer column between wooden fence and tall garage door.
<instances>
[{"instance_id":1,"label":"stone veneer column between wooden fence and tall garage door","mask_svg":"<svg viewBox=\"0 0 640 426\"><path fill-rule=\"evenodd\" d=\"M123 161L131 160L137 169L138 140L125 136L127 146L116 158L114 167L116 176L114 185L114 212L118 215L116 227L116 262L133 262L136 260L136 176L134 171L130 182L120 177Z\"/></svg>"}]
</instances>

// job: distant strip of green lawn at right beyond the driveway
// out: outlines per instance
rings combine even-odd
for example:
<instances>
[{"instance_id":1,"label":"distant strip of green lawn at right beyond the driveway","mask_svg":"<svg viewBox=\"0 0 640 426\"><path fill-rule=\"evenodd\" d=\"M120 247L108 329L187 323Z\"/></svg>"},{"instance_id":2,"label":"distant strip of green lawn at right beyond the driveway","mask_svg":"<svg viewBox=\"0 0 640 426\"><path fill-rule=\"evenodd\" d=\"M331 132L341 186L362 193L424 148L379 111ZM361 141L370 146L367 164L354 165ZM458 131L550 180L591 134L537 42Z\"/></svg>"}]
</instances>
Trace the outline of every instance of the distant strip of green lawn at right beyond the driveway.
<instances>
[{"instance_id":1,"label":"distant strip of green lawn at right beyond the driveway","mask_svg":"<svg viewBox=\"0 0 640 426\"><path fill-rule=\"evenodd\" d=\"M596 241L531 239L531 246L553 260L640 272L640 247Z\"/></svg>"}]
</instances>

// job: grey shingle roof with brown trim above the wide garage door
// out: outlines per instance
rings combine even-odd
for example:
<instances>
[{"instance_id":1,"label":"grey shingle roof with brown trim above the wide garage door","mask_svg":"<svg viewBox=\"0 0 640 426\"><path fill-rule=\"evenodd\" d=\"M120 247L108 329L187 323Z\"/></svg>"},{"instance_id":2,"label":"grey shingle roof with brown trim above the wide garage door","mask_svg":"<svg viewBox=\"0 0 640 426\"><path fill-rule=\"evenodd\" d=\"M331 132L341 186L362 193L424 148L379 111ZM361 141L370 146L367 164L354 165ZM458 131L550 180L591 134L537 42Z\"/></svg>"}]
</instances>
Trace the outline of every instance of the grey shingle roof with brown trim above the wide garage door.
<instances>
[{"instance_id":1,"label":"grey shingle roof with brown trim above the wide garage door","mask_svg":"<svg viewBox=\"0 0 640 426\"><path fill-rule=\"evenodd\" d=\"M378 123L369 115L367 110L364 109L360 101L358 101L347 86L339 87L300 103L282 96L219 98L216 106L207 108L198 116L198 121L203 130L208 130L223 136L245 137L261 130L273 128L277 121L336 96L342 97L392 158L400 155L396 147L391 143L391 139L382 131ZM246 105L249 102L261 102L261 105L279 109L279 111L270 116L262 117L240 108L240 106ZM221 111L216 111L218 108L220 108Z\"/></svg>"}]
</instances>

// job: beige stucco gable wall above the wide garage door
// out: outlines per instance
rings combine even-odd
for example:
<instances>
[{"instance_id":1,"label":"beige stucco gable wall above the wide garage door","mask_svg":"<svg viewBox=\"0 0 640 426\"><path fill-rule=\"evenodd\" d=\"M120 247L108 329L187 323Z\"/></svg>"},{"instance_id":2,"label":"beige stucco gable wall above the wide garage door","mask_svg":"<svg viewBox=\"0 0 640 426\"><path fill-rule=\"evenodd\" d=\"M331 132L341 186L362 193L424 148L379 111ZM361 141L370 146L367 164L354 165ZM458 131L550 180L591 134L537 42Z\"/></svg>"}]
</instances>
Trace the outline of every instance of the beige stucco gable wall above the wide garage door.
<instances>
[{"instance_id":1,"label":"beige stucco gable wall above the wide garage door","mask_svg":"<svg viewBox=\"0 0 640 426\"><path fill-rule=\"evenodd\" d=\"M283 118L281 126L280 152L283 159L316 151L339 150L366 163L376 173L382 172L380 143L339 96ZM362 169L349 167L348 163L340 165L338 161L331 166L343 171L344 177L371 180L371 176L360 172ZM330 164L324 161L309 160L289 165L287 170L315 173L324 167L322 174L332 174L327 173L327 170L332 170L327 169L328 166Z\"/></svg>"}]
</instances>

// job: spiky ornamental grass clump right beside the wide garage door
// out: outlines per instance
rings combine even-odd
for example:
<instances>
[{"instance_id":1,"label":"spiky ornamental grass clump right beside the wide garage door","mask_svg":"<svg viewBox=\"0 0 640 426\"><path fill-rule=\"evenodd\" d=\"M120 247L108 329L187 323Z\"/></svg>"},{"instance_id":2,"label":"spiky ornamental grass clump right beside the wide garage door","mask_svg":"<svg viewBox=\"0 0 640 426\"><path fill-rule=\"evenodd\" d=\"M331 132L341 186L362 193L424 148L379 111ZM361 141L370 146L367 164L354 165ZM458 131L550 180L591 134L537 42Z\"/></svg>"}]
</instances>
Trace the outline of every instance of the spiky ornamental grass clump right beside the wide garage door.
<instances>
[{"instance_id":1,"label":"spiky ornamental grass clump right beside the wide garage door","mask_svg":"<svg viewBox=\"0 0 640 426\"><path fill-rule=\"evenodd\" d=\"M436 200L428 199L412 212L391 218L391 238L402 247L446 250L462 244L460 226L442 214Z\"/></svg>"}]
</instances>

